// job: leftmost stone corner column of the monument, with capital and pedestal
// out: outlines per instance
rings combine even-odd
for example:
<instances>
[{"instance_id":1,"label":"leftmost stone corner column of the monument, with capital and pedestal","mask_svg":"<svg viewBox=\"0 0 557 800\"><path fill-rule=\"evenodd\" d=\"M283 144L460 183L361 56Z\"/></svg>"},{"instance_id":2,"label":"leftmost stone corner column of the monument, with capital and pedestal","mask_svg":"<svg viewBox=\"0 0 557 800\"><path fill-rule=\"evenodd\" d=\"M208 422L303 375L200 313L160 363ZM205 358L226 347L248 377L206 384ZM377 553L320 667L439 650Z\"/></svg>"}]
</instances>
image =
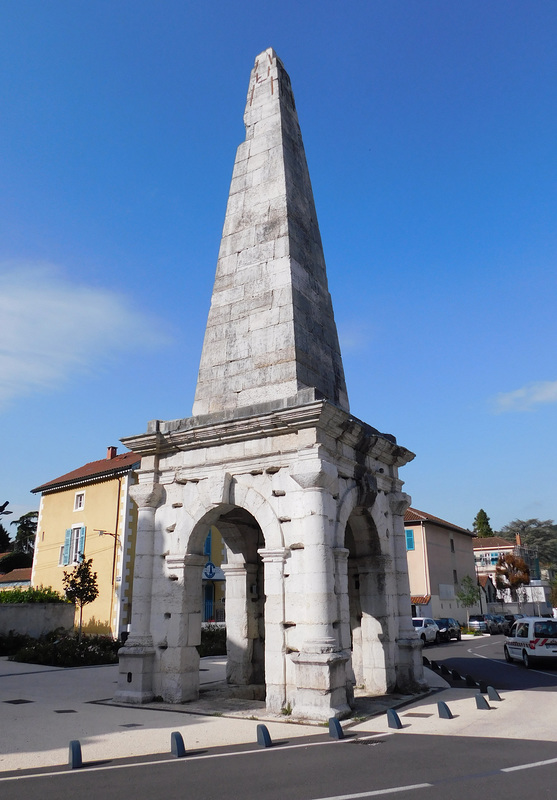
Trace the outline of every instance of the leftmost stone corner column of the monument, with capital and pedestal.
<instances>
[{"instance_id":1,"label":"leftmost stone corner column of the monument, with capital and pedestal","mask_svg":"<svg viewBox=\"0 0 557 800\"><path fill-rule=\"evenodd\" d=\"M130 495L138 506L132 621L130 635L119 651L118 689L114 699L148 703L153 698L155 657L151 635L155 512L164 489L160 483L143 482L131 486Z\"/></svg>"}]
</instances>

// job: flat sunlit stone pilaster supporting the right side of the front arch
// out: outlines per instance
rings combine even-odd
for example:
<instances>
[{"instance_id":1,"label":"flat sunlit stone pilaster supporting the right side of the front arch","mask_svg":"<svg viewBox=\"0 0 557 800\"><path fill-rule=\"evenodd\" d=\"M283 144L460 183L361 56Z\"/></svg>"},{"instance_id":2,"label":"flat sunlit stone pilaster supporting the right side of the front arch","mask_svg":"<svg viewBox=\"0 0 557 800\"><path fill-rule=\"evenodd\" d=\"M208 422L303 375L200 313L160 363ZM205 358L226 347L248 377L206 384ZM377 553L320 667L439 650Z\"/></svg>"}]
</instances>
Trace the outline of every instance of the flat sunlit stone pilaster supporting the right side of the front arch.
<instances>
[{"instance_id":1,"label":"flat sunlit stone pilaster supporting the right side of the front arch","mask_svg":"<svg viewBox=\"0 0 557 800\"><path fill-rule=\"evenodd\" d=\"M267 711L280 713L288 702L284 641L284 564L289 550L263 548L258 553L265 570L265 700Z\"/></svg>"}]
</instances>

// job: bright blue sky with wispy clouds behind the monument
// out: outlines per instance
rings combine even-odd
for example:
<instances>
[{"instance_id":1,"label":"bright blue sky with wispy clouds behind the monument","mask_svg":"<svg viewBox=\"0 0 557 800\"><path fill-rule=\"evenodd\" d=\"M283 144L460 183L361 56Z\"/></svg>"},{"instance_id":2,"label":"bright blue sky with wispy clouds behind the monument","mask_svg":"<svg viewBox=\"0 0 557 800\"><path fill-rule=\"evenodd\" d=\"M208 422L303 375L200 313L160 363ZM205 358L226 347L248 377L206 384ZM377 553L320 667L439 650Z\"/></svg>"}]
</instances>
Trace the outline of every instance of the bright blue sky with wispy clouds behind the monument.
<instances>
[{"instance_id":1,"label":"bright blue sky with wispy clouds behind the monument","mask_svg":"<svg viewBox=\"0 0 557 800\"><path fill-rule=\"evenodd\" d=\"M0 20L0 502L36 508L190 415L273 47L352 412L416 453L415 507L557 518L552 0L0 0Z\"/></svg>"}]
</instances>

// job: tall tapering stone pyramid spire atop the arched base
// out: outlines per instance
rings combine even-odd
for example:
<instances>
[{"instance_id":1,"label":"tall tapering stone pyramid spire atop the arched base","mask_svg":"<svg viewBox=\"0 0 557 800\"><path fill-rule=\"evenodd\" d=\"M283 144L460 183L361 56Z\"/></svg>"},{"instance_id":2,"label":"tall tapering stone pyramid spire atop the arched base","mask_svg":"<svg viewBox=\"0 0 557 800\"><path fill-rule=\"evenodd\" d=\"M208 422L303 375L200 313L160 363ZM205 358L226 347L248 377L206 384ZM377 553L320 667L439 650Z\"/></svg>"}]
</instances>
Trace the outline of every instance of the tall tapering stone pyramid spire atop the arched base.
<instances>
[{"instance_id":1,"label":"tall tapering stone pyramid spire atop the arched base","mask_svg":"<svg viewBox=\"0 0 557 800\"><path fill-rule=\"evenodd\" d=\"M348 411L325 259L290 79L255 59L193 415L315 389Z\"/></svg>"}]
</instances>

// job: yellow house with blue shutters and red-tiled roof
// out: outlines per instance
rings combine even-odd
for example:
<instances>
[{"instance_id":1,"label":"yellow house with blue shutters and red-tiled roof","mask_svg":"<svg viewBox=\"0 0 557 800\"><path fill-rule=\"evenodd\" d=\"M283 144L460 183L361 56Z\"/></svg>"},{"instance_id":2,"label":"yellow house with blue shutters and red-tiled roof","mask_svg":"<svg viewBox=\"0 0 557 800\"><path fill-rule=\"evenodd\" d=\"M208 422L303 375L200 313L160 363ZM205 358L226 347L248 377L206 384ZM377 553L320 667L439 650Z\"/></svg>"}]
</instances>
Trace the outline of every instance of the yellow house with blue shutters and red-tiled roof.
<instances>
[{"instance_id":1,"label":"yellow house with blue shutters and red-tiled roof","mask_svg":"<svg viewBox=\"0 0 557 800\"><path fill-rule=\"evenodd\" d=\"M85 631L116 637L131 620L137 507L129 488L139 463L109 447L106 458L32 490L41 502L31 585L63 591L64 571L92 558L99 595L83 608Z\"/></svg>"}]
</instances>

